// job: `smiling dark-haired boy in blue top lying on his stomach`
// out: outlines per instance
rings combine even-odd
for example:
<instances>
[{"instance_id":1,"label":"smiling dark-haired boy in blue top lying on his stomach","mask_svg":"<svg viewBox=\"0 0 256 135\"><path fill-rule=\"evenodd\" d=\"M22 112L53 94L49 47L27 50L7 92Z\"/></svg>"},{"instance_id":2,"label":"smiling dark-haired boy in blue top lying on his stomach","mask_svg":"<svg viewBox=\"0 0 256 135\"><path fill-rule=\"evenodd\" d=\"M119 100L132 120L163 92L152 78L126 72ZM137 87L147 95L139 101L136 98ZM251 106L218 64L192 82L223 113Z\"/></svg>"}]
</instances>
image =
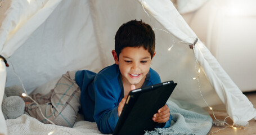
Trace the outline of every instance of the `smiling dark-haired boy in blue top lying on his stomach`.
<instances>
[{"instance_id":1,"label":"smiling dark-haired boy in blue top lying on his stomach","mask_svg":"<svg viewBox=\"0 0 256 135\"><path fill-rule=\"evenodd\" d=\"M74 116L80 107L74 99L78 100L80 96L84 119L96 122L102 133L113 133L129 91L160 83L161 80L158 73L150 68L151 60L155 56L155 34L150 25L132 20L120 26L115 35L115 50L112 51L112 55L115 64L102 69L98 74L88 70L65 74L57 84L71 83L65 85L68 86L65 94L60 95L57 100L53 100L56 97L51 96L53 102L48 106L53 106L53 110L46 116L53 116L51 119L55 122L59 120L57 123L61 125L65 121L64 123L68 123L65 126L72 127L75 122ZM57 90L58 86L61 87L56 85L52 90L54 94L51 95L61 93ZM37 95L39 96L42 95ZM33 108L29 105L30 107L26 107L28 111ZM65 107L73 109L71 118L70 111L67 111L70 109ZM171 119L167 105L152 116L152 120L164 128L170 126ZM41 121L46 122L44 119Z\"/></svg>"}]
</instances>

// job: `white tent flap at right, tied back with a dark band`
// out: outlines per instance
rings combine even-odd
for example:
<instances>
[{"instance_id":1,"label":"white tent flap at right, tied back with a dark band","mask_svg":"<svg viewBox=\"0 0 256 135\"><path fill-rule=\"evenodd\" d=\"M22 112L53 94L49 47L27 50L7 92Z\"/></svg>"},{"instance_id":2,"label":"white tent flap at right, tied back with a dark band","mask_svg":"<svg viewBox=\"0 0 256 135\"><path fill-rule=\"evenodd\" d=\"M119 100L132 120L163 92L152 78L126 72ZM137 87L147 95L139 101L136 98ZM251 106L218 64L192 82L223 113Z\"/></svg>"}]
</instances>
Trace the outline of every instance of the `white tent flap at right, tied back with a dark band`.
<instances>
[{"instance_id":1,"label":"white tent flap at right, tied back with a dark band","mask_svg":"<svg viewBox=\"0 0 256 135\"><path fill-rule=\"evenodd\" d=\"M176 37L179 37L181 40L196 37L195 33L189 28L181 15L179 15L177 11L172 11L175 10L175 8L164 8L163 10L158 7L170 7L170 5L168 3L158 3L156 1L150 1L149 3L151 5L144 7L149 7L147 10L151 11L151 15L154 16L156 20L158 20L174 36L177 35ZM142 4L146 5L146 2L142 1ZM157 4L159 4L159 6L154 6ZM171 16L173 16L173 18ZM181 34L183 36L179 36L180 31L184 31L184 33ZM186 35L187 37L185 37ZM188 43L192 44L193 41ZM236 84L233 83L231 78L221 68L221 65L218 64L218 61L212 56L204 44L201 42L197 43L194 51L196 60L201 65L201 68L204 70L204 73L208 77L210 84L212 84L219 98L221 98L222 102L226 105L227 113L231 116L233 121L237 122L238 120L244 120L247 122L254 118L256 112L253 105L249 102L248 98L242 94ZM243 111L247 113L250 112L248 113L250 117L241 113Z\"/></svg>"}]
</instances>

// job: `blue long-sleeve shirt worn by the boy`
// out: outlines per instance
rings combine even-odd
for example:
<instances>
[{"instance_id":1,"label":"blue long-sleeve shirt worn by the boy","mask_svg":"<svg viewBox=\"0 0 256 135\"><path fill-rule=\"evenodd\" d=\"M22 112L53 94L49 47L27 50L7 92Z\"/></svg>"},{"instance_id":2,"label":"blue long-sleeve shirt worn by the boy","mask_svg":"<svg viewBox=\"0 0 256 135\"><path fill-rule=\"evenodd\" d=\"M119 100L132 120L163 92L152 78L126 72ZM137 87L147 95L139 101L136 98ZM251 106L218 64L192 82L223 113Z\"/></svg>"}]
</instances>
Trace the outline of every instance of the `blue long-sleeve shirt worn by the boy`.
<instances>
[{"instance_id":1,"label":"blue long-sleeve shirt worn by the boy","mask_svg":"<svg viewBox=\"0 0 256 135\"><path fill-rule=\"evenodd\" d=\"M119 66L113 64L102 69L98 74L80 70L75 74L75 81L81 89L81 106L84 119L96 122L102 133L113 133L118 122L118 105L124 97L124 88ZM143 86L160 83L156 71L150 68ZM164 128L170 126L170 119Z\"/></svg>"}]
</instances>

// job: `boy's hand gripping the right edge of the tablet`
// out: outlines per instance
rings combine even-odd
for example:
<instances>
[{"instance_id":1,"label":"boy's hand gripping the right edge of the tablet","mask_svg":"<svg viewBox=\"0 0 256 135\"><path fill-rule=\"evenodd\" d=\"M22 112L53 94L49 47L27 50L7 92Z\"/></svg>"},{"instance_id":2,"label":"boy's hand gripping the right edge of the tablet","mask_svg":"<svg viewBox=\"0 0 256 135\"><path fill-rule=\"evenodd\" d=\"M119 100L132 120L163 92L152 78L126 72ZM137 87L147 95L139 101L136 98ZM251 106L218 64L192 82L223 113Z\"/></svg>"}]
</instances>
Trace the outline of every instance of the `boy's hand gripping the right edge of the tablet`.
<instances>
[{"instance_id":1,"label":"boy's hand gripping the right edge of the tablet","mask_svg":"<svg viewBox=\"0 0 256 135\"><path fill-rule=\"evenodd\" d=\"M169 120L170 110L167 105L164 105L158 110L158 113L154 114L152 120L158 123L165 123Z\"/></svg>"}]
</instances>

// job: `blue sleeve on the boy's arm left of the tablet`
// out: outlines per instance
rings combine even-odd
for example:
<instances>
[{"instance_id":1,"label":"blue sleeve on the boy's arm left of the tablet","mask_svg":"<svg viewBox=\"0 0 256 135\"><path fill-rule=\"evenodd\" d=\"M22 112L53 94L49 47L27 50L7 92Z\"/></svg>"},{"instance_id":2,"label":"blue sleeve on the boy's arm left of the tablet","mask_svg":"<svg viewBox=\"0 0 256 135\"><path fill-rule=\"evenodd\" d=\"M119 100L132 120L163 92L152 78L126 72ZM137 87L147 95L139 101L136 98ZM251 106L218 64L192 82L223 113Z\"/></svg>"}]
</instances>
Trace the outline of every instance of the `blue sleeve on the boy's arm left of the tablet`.
<instances>
[{"instance_id":1,"label":"blue sleeve on the boy's arm left of the tablet","mask_svg":"<svg viewBox=\"0 0 256 135\"><path fill-rule=\"evenodd\" d=\"M118 81L116 79L116 81ZM95 78L95 113L94 119L102 133L113 133L118 122L120 90L118 82L106 77ZM121 98L122 99L122 98Z\"/></svg>"}]
</instances>

